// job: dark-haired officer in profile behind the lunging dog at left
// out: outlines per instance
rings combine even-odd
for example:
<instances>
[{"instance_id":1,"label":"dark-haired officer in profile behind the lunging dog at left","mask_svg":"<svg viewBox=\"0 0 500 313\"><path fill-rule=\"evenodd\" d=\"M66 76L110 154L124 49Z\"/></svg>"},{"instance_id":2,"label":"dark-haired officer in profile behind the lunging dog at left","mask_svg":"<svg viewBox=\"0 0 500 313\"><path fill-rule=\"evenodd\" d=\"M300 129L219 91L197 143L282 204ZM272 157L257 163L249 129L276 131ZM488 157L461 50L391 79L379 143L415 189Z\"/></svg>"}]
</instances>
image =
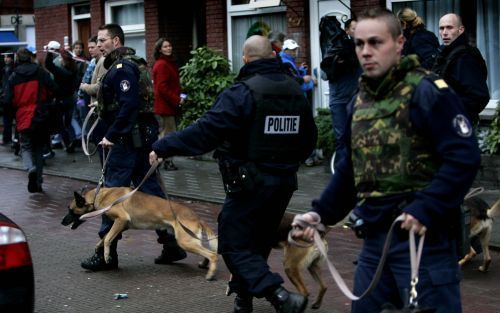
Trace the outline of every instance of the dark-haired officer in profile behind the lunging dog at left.
<instances>
[{"instance_id":1,"label":"dark-haired officer in profile behind the lunging dog at left","mask_svg":"<svg viewBox=\"0 0 500 313\"><path fill-rule=\"evenodd\" d=\"M151 143L158 139L158 123L154 117L151 101L142 93L140 67L134 60L135 51L123 47L124 34L117 24L106 24L99 28L97 47L106 57L104 67L108 70L101 81L98 92L97 111L102 121L101 145L109 153L105 164L105 187L138 186L149 170L148 154ZM164 197L156 176L151 175L141 186L141 191ZM99 236L103 238L113 222L102 215ZM186 257L168 233L158 232L158 242L163 243L162 255L155 263L170 263ZM119 236L121 238L121 235ZM119 239L118 238L118 239ZM118 240L111 244L111 261L104 261L102 248L84 260L81 266L92 271L118 268L116 252Z\"/></svg>"}]
</instances>

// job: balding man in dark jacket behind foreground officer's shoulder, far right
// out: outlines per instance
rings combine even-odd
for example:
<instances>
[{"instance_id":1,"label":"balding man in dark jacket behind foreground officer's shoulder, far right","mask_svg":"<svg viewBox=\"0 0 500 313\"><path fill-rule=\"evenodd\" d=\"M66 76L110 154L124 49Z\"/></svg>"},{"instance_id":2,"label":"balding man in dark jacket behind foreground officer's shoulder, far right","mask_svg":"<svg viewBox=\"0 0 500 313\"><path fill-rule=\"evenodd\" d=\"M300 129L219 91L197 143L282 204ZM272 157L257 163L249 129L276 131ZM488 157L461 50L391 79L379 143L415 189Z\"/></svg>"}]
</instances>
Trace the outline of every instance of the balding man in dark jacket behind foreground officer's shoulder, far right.
<instances>
[{"instance_id":1,"label":"balding man in dark jacket behind foreground officer's shoulder, far right","mask_svg":"<svg viewBox=\"0 0 500 313\"><path fill-rule=\"evenodd\" d=\"M432 70L444 78L458 94L473 125L486 107L490 94L486 80L488 69L476 47L469 44L460 16L454 13L439 19L439 36L443 45Z\"/></svg>"}]
</instances>

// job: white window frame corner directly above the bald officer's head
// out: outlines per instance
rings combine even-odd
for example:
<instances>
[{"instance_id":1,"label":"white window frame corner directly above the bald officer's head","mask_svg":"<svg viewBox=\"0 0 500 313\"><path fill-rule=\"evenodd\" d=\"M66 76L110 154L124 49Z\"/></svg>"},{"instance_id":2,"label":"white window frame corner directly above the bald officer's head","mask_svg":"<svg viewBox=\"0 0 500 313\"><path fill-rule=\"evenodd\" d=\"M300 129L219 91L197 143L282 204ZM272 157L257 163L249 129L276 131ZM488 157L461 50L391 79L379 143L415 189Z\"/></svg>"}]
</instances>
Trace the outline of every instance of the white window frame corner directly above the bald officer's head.
<instances>
[{"instance_id":1,"label":"white window frame corner directly above the bald officer's head","mask_svg":"<svg viewBox=\"0 0 500 313\"><path fill-rule=\"evenodd\" d=\"M259 15L259 14L268 14L268 13L281 13L286 12L286 6L280 5L274 7L266 7L266 8L255 8L251 7L250 4L238 4L232 5L231 0L226 0L227 3L227 54L228 59L231 62L231 66L233 64L232 55L233 55L233 17L234 16L243 16L243 15ZM233 69L234 70L234 69Z\"/></svg>"}]
</instances>

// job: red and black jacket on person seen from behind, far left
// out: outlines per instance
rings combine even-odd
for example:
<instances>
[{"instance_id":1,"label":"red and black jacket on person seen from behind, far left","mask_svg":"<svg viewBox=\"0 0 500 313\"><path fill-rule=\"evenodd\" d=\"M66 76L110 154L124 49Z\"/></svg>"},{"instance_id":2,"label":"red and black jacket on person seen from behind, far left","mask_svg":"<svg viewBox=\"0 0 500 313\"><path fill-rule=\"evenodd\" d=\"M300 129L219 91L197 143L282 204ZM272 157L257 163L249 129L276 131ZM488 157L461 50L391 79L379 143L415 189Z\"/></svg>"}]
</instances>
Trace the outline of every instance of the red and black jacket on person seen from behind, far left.
<instances>
[{"instance_id":1,"label":"red and black jacket on person seen from behind, far left","mask_svg":"<svg viewBox=\"0 0 500 313\"><path fill-rule=\"evenodd\" d=\"M40 85L42 89L40 101L38 101ZM31 128L34 117L41 118L40 115L45 115L44 104L50 101L55 91L56 86L50 74L37 64L27 63L16 66L8 82L6 103L10 103L16 111L18 131Z\"/></svg>"}]
</instances>

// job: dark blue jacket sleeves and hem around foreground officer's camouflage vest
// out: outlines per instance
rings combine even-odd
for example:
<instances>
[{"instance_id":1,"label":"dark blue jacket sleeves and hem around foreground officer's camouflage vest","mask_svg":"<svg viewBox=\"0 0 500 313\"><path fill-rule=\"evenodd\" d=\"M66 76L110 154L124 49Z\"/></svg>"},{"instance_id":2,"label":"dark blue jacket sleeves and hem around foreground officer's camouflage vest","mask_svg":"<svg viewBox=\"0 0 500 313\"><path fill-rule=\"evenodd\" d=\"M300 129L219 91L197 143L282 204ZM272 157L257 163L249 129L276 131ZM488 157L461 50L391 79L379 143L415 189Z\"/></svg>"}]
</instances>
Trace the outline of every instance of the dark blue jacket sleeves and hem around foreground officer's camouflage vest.
<instances>
[{"instance_id":1,"label":"dark blue jacket sleeves and hem around foreground officer's camouflage vest","mask_svg":"<svg viewBox=\"0 0 500 313\"><path fill-rule=\"evenodd\" d=\"M441 81L442 82L442 81ZM321 216L324 224L341 221L350 210L365 223L376 225L393 216L396 204L410 199L401 211L411 214L429 230L448 232L450 219L458 216L458 209L472 185L480 165L477 140L469 125L461 129L465 110L457 95L446 85L441 88L424 78L410 100L411 125L432 143L431 153L440 166L430 184L411 194L368 198L357 204L351 161L350 138L354 100L351 101L348 123L336 151L339 158L335 174L319 199L312 202L312 209ZM470 123L469 123L470 124ZM462 124L463 125L463 124Z\"/></svg>"}]
</instances>

